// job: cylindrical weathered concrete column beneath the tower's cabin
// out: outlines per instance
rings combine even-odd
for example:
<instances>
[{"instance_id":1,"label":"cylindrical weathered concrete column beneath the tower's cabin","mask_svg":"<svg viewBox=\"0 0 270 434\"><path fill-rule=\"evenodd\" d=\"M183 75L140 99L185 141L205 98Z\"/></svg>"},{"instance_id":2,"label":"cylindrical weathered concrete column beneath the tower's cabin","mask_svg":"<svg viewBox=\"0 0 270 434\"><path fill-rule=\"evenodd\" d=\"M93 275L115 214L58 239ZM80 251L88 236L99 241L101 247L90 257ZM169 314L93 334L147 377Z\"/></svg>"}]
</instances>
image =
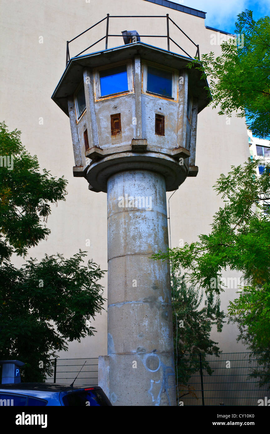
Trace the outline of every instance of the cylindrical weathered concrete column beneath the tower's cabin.
<instances>
[{"instance_id":1,"label":"cylindrical weathered concrete column beneath the tower's cabin","mask_svg":"<svg viewBox=\"0 0 270 434\"><path fill-rule=\"evenodd\" d=\"M108 355L113 405L176 405L168 224L163 175L122 171L107 181Z\"/></svg>"}]
</instances>

